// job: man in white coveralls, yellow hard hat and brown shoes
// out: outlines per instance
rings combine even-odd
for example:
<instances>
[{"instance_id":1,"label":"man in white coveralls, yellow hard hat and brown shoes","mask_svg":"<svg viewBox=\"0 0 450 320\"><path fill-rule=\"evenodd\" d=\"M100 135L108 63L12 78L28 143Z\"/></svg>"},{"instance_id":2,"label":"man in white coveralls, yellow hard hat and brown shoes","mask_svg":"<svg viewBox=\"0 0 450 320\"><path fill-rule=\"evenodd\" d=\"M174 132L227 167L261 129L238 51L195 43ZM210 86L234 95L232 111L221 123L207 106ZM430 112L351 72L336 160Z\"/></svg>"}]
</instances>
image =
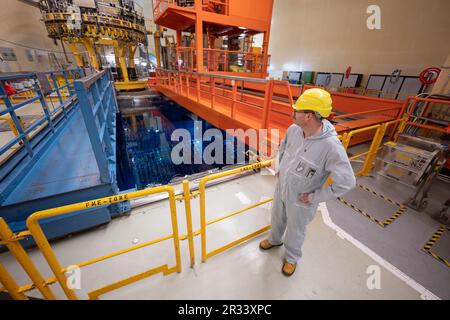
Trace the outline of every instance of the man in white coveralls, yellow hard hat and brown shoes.
<instances>
[{"instance_id":1,"label":"man in white coveralls, yellow hard hat and brown shoes","mask_svg":"<svg viewBox=\"0 0 450 320\"><path fill-rule=\"evenodd\" d=\"M332 109L330 94L308 89L293 108L293 122L278 150L278 181L273 197L272 228L263 250L283 244L282 272L291 276L302 256L306 226L320 202L340 197L355 187L355 175L336 130L326 119ZM332 185L324 187L331 177Z\"/></svg>"}]
</instances>

